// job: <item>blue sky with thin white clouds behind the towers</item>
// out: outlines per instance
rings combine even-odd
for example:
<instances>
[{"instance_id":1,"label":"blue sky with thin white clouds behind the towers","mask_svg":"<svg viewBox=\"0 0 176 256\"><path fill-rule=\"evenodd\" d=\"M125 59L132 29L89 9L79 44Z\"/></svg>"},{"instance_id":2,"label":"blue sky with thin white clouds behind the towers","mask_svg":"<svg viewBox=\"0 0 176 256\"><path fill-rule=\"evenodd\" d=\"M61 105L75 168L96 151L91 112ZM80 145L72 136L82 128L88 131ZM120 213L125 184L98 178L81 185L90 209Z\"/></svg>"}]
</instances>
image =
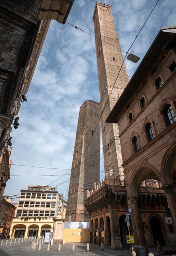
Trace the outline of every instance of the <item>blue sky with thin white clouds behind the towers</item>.
<instances>
[{"instance_id":1,"label":"blue sky with thin white clouds behind the towers","mask_svg":"<svg viewBox=\"0 0 176 256\"><path fill-rule=\"evenodd\" d=\"M112 5L124 57L141 28L129 52L139 56L140 61L159 30L176 24L175 0L100 2ZM27 102L21 103L19 128L11 132L13 162L4 194L11 196L14 203L18 202L20 190L28 185L50 185L65 198L68 196L79 108L85 100L100 101L93 23L95 3L75 0L65 24L51 21L26 94ZM125 60L129 79L140 61L134 64Z\"/></svg>"}]
</instances>

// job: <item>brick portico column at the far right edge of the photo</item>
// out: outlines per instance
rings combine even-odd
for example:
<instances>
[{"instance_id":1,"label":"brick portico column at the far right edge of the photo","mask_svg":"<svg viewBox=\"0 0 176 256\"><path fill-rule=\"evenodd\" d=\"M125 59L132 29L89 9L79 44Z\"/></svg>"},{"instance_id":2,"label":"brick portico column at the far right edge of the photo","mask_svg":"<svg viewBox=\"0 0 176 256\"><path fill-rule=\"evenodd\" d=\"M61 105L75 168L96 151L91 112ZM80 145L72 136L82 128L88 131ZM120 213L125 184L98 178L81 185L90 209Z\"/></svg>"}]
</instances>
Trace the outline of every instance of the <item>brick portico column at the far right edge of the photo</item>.
<instances>
[{"instance_id":1,"label":"brick portico column at the far right edge of the photo","mask_svg":"<svg viewBox=\"0 0 176 256\"><path fill-rule=\"evenodd\" d=\"M176 233L176 197L174 195L173 185L163 186L162 189L165 191L167 204L172 217L174 233Z\"/></svg>"}]
</instances>

